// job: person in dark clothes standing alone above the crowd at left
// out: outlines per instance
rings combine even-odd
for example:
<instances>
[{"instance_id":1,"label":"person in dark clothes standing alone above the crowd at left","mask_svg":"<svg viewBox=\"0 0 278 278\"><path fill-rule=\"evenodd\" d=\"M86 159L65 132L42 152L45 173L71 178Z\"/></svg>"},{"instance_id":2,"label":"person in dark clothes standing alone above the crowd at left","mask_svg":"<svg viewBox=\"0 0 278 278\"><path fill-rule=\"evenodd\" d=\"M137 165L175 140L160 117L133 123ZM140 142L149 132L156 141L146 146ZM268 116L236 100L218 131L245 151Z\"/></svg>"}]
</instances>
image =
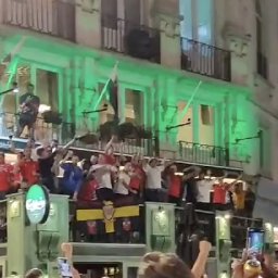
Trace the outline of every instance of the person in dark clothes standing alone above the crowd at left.
<instances>
[{"instance_id":1,"label":"person in dark clothes standing alone above the crowd at left","mask_svg":"<svg viewBox=\"0 0 278 278\"><path fill-rule=\"evenodd\" d=\"M15 136L21 137L24 128L28 127L28 136L34 139L35 125L39 113L40 99L34 94L34 85L28 84L27 92L20 98L20 116Z\"/></svg>"}]
</instances>

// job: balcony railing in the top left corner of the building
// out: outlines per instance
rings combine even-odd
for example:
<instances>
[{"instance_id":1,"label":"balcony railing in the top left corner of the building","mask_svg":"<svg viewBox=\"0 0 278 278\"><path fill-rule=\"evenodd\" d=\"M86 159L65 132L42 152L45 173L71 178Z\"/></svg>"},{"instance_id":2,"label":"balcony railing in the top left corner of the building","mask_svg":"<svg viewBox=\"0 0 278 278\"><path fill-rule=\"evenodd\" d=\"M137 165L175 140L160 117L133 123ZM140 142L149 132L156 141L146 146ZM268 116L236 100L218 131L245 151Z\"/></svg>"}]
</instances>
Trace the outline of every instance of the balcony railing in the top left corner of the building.
<instances>
[{"instance_id":1,"label":"balcony railing in the top left corner of the building","mask_svg":"<svg viewBox=\"0 0 278 278\"><path fill-rule=\"evenodd\" d=\"M1 0L0 23L75 40L75 1Z\"/></svg>"}]
</instances>

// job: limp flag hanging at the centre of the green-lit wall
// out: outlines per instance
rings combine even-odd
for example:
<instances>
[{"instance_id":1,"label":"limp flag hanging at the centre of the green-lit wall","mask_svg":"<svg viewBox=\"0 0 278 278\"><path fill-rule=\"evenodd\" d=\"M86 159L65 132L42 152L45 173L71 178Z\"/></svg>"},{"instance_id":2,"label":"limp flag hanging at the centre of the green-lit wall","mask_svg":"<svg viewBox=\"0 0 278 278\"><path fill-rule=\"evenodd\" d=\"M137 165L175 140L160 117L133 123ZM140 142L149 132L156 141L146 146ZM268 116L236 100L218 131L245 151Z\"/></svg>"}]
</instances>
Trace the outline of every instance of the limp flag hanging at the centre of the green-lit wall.
<instances>
[{"instance_id":1,"label":"limp flag hanging at the centre of the green-lit wall","mask_svg":"<svg viewBox=\"0 0 278 278\"><path fill-rule=\"evenodd\" d=\"M114 118L118 119L117 63L113 68L106 88L110 104L114 110Z\"/></svg>"}]
</instances>

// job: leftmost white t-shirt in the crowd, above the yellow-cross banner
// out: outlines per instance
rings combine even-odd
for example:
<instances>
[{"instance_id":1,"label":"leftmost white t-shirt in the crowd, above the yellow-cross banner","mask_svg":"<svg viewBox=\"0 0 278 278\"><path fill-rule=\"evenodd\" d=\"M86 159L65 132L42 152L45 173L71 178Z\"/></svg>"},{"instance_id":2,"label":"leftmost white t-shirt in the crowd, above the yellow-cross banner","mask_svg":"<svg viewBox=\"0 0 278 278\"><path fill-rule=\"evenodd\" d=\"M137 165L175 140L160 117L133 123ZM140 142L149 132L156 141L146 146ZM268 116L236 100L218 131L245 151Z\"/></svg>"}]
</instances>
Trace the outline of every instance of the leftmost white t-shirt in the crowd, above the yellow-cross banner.
<instances>
[{"instance_id":1,"label":"leftmost white t-shirt in the crowd, above the yellow-cross banner","mask_svg":"<svg viewBox=\"0 0 278 278\"><path fill-rule=\"evenodd\" d=\"M98 182L98 188L112 189L111 172L113 170L111 165L97 164L92 165L90 172L93 172L93 176Z\"/></svg>"}]
</instances>

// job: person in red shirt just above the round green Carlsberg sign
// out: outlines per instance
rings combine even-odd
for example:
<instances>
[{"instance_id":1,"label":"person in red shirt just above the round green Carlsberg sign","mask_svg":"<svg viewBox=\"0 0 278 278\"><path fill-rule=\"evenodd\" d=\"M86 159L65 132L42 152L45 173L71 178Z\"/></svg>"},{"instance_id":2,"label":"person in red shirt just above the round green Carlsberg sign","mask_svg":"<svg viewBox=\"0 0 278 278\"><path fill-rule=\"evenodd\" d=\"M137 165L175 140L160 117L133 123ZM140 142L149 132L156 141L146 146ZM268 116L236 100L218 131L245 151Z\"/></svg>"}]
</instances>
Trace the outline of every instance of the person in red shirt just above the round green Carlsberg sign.
<instances>
[{"instance_id":1,"label":"person in red shirt just above the round green Carlsberg sign","mask_svg":"<svg viewBox=\"0 0 278 278\"><path fill-rule=\"evenodd\" d=\"M31 160L31 149L24 150L25 160L21 163L20 169L23 179L23 187L29 188L39 181L39 165L37 161Z\"/></svg>"}]
</instances>

